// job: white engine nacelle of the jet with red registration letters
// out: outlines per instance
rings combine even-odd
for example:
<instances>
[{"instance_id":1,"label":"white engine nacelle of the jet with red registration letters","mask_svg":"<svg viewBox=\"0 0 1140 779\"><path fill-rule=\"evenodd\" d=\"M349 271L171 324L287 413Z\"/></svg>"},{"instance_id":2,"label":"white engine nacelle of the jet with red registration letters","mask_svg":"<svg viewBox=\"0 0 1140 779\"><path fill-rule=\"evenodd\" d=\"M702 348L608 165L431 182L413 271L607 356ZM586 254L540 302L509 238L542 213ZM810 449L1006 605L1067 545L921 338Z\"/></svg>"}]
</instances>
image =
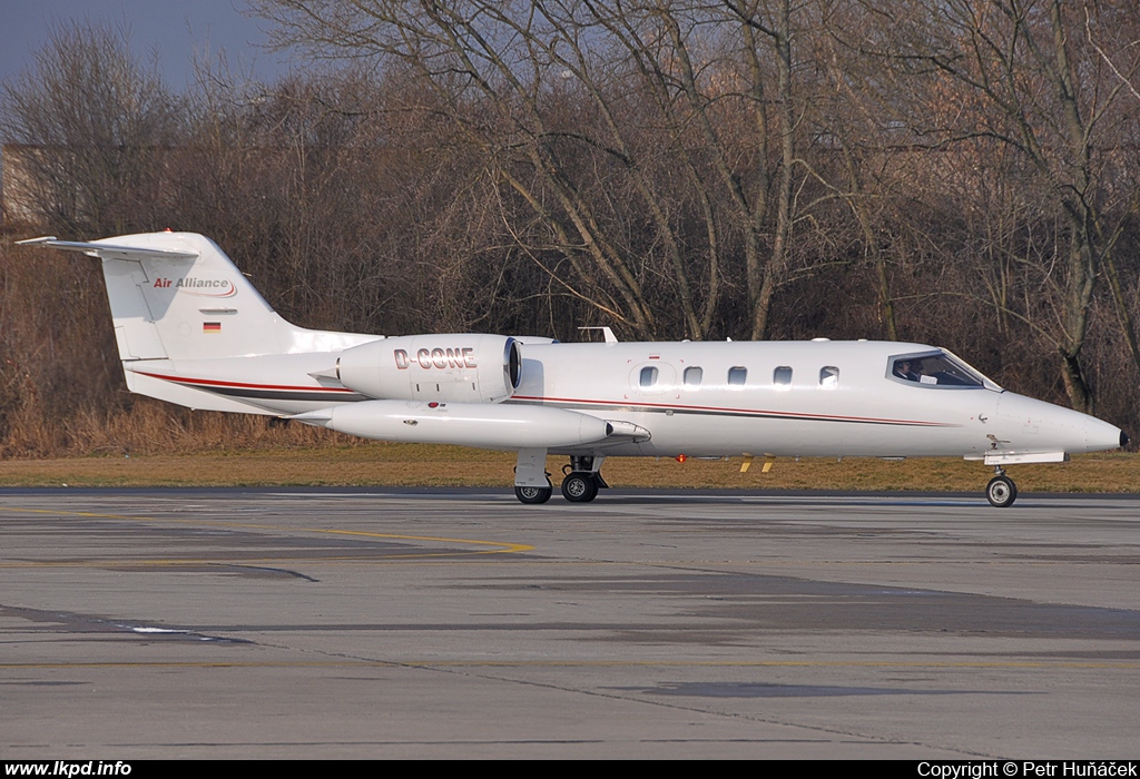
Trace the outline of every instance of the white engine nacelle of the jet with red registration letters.
<instances>
[{"instance_id":1,"label":"white engine nacelle of the jet with red registration letters","mask_svg":"<svg viewBox=\"0 0 1140 779\"><path fill-rule=\"evenodd\" d=\"M336 375L369 397L498 403L519 387L522 355L507 336L400 336L344 350Z\"/></svg>"}]
</instances>

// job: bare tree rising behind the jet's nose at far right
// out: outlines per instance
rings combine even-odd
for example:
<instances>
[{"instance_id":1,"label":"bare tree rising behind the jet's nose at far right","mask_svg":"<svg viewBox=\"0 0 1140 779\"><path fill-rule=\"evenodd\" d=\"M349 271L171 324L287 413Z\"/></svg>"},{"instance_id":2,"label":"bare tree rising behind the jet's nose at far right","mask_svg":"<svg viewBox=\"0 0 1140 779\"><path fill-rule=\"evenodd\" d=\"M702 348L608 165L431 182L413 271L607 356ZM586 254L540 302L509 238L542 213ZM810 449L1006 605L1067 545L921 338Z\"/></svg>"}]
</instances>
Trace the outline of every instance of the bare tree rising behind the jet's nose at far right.
<instances>
[{"instance_id":1,"label":"bare tree rising behind the jet's nose at far right","mask_svg":"<svg viewBox=\"0 0 1140 779\"><path fill-rule=\"evenodd\" d=\"M909 126L930 145L988 140L1013 149L1048 191L1064 224L1065 246L1037 266L1051 317L1009 310L1048 339L1061 363L1073 407L1091 411L1092 387L1081 352L1098 279L1110 262L1134 192L1119 179L1126 83L1084 36L1085 15L1098 28L1114 25L1115 3L1062 0L910 0L882 18L877 54L919 84L911 91ZM862 43L864 48L876 47ZM1119 46L1133 73L1140 50ZM1053 261L1058 262L1053 262Z\"/></svg>"}]
</instances>

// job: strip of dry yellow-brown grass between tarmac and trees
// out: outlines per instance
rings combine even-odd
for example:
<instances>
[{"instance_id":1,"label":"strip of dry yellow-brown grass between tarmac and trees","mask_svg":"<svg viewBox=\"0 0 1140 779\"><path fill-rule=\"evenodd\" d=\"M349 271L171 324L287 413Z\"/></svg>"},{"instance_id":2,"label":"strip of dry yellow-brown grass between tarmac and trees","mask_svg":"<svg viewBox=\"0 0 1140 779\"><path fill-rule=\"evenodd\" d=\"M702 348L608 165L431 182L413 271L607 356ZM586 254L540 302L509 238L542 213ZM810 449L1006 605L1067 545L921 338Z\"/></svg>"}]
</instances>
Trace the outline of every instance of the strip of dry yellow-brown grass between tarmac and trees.
<instances>
[{"instance_id":1,"label":"strip of dry yellow-brown grass between tarmac and trees","mask_svg":"<svg viewBox=\"0 0 1140 779\"><path fill-rule=\"evenodd\" d=\"M269 442L264 442L269 443ZM271 444L270 444L271 445ZM272 445L271 445L272 446ZM551 458L557 474L563 458ZM121 452L66 459L7 460L2 486L225 486L225 485L388 485L510 486L514 454L458 446L369 442L356 445L233 449L188 454ZM604 474L613 486L826 489L978 492L991 472L978 462L953 459L882 461L866 458L776 460L762 473L756 461L740 473L740 460L617 458ZM1025 491L1138 492L1140 456L1089 454L1072 462L1013 467Z\"/></svg>"}]
</instances>

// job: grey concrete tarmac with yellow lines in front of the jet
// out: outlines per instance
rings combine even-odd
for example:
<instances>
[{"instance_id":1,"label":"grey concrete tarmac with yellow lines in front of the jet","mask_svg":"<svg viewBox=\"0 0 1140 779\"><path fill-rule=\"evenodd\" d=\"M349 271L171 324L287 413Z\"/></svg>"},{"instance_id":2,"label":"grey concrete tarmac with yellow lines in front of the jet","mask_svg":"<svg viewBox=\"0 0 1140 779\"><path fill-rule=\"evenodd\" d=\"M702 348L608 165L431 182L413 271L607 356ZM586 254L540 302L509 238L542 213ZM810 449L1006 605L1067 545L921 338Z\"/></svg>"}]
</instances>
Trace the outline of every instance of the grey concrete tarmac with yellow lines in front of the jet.
<instances>
[{"instance_id":1,"label":"grey concrete tarmac with yellow lines in front of the jet","mask_svg":"<svg viewBox=\"0 0 1140 779\"><path fill-rule=\"evenodd\" d=\"M0 490L0 754L1126 758L1140 498Z\"/></svg>"}]
</instances>

